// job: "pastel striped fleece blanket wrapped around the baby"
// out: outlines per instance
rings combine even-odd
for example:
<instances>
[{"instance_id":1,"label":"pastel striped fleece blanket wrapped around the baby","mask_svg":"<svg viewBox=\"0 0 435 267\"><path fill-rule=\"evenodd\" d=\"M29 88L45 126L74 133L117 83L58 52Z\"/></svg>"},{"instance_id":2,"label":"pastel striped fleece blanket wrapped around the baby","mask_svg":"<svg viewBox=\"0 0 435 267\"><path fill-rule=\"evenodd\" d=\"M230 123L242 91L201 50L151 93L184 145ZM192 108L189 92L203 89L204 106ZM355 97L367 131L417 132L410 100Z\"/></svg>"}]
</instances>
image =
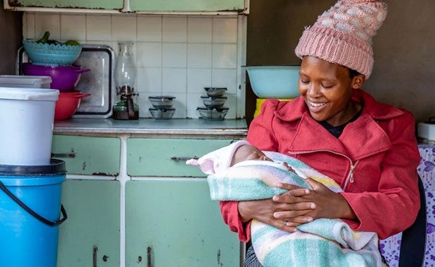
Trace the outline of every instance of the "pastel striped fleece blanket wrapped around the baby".
<instances>
[{"instance_id":1,"label":"pastel striped fleece blanket wrapped around the baby","mask_svg":"<svg viewBox=\"0 0 435 267\"><path fill-rule=\"evenodd\" d=\"M311 177L329 189L342 191L325 175L300 160L276 152L265 152L275 163L248 160L207 178L213 200L259 200L272 198L285 190L278 182L311 189L301 177ZM287 162L297 174L288 172ZM253 220L251 240L258 260L264 267L289 266L382 266L376 233L353 231L340 219L316 219L288 233Z\"/></svg>"}]
</instances>

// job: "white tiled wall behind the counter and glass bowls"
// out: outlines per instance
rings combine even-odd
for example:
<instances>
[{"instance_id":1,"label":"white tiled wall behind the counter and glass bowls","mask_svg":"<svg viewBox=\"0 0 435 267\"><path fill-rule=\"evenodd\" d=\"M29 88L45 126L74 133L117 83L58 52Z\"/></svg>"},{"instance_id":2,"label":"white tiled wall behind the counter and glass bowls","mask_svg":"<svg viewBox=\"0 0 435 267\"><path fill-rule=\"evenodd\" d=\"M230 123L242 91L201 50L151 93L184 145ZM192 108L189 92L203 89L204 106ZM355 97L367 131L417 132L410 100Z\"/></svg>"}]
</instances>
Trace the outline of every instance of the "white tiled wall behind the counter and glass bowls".
<instances>
[{"instance_id":1,"label":"white tiled wall behind the counter and glass bowls","mask_svg":"<svg viewBox=\"0 0 435 267\"><path fill-rule=\"evenodd\" d=\"M198 118L204 87L226 87L225 118L245 115L246 17L199 15L96 15L25 13L23 37L105 44L133 41L140 116L149 117L148 97L173 95L174 118Z\"/></svg>"}]
</instances>

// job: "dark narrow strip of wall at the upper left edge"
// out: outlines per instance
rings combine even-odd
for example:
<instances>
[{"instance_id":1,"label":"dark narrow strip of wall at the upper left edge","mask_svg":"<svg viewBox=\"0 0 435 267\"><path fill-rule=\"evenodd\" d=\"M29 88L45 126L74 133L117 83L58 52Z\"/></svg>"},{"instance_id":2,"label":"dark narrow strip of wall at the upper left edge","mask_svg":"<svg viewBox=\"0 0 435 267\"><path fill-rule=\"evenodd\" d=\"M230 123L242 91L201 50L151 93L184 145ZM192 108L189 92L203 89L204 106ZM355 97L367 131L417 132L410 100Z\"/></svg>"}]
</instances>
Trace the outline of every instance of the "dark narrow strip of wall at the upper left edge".
<instances>
[{"instance_id":1,"label":"dark narrow strip of wall at the upper left edge","mask_svg":"<svg viewBox=\"0 0 435 267\"><path fill-rule=\"evenodd\" d=\"M15 74L15 51L21 46L21 12L4 11L0 0L0 75Z\"/></svg>"}]
</instances>

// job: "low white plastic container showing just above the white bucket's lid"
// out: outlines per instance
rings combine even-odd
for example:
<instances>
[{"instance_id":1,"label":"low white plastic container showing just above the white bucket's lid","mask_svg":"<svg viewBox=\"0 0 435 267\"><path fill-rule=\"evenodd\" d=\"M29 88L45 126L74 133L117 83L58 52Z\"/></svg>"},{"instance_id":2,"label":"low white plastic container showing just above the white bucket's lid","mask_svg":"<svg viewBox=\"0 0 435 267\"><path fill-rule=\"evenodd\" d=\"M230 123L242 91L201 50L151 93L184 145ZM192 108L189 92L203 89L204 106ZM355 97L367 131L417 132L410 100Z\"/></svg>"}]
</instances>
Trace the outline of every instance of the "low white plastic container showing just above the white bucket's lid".
<instances>
[{"instance_id":1,"label":"low white plastic container showing just above the white bucket's lid","mask_svg":"<svg viewBox=\"0 0 435 267\"><path fill-rule=\"evenodd\" d=\"M0 87L50 88L50 76L0 75Z\"/></svg>"}]
</instances>

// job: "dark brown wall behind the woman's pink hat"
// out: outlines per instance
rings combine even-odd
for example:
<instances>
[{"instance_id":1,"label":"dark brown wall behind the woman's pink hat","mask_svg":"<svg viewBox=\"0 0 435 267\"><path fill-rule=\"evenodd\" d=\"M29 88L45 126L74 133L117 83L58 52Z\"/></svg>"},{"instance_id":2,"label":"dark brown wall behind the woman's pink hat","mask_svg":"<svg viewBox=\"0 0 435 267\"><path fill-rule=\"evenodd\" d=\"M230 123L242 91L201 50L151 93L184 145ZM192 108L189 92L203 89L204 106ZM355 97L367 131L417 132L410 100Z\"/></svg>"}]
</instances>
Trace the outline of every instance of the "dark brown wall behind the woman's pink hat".
<instances>
[{"instance_id":1,"label":"dark brown wall behind the woman's pink hat","mask_svg":"<svg viewBox=\"0 0 435 267\"><path fill-rule=\"evenodd\" d=\"M364 89L380 102L435 116L435 1L384 0L389 13L373 38L375 65ZM335 0L250 0L246 63L300 64L294 55L304 26ZM247 89L246 117L255 95Z\"/></svg>"}]
</instances>

